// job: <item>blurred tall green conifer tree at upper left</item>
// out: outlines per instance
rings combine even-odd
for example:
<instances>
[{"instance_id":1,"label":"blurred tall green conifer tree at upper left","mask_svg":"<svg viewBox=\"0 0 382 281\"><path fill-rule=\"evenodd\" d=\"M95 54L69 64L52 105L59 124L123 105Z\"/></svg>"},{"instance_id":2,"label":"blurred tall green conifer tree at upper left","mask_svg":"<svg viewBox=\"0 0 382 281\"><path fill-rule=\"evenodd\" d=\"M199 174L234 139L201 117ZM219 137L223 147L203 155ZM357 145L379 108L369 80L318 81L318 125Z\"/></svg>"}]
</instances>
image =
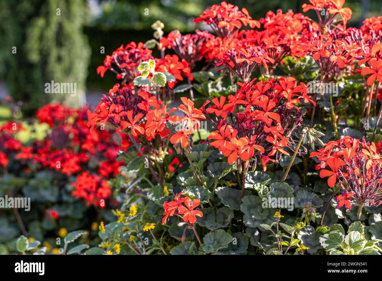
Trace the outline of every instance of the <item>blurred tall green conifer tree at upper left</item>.
<instances>
[{"instance_id":1,"label":"blurred tall green conifer tree at upper left","mask_svg":"<svg viewBox=\"0 0 382 281\"><path fill-rule=\"evenodd\" d=\"M50 101L84 101L91 53L82 31L86 16L86 0L0 1L0 71L26 115ZM76 83L76 96L45 93L52 80Z\"/></svg>"}]
</instances>

